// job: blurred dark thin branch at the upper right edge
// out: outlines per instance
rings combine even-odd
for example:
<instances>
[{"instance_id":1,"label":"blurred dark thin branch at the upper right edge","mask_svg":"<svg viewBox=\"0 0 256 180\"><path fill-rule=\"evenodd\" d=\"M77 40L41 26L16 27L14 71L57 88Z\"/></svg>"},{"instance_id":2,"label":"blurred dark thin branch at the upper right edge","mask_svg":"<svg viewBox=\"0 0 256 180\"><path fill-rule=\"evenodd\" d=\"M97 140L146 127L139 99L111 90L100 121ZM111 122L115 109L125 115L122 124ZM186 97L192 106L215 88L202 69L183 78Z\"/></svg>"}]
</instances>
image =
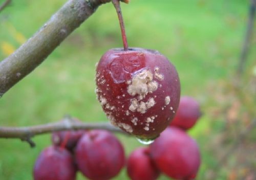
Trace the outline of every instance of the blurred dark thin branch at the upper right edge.
<instances>
[{"instance_id":1,"label":"blurred dark thin branch at the upper right edge","mask_svg":"<svg viewBox=\"0 0 256 180\"><path fill-rule=\"evenodd\" d=\"M253 33L255 9L256 9L256 0L251 0L251 4L249 7L249 18L247 22L246 34L244 38L242 52L239 58L239 65L237 70L238 77L240 77L244 71L244 66L245 66L245 62L246 62L248 51L249 51L249 44L250 44L250 40L252 38L252 33Z\"/></svg>"}]
</instances>

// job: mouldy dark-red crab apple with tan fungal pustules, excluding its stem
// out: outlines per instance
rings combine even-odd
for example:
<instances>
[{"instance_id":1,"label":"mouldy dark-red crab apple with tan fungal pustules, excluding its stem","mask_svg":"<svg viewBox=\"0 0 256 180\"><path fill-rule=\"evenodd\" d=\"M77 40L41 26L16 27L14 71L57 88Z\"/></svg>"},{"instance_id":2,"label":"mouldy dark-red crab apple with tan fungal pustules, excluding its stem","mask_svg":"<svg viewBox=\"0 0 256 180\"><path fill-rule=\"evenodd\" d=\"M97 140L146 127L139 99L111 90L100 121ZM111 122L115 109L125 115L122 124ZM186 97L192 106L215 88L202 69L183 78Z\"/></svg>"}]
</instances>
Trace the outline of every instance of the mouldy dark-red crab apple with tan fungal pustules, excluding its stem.
<instances>
[{"instance_id":1,"label":"mouldy dark-red crab apple with tan fungal pustules, excluding its stem","mask_svg":"<svg viewBox=\"0 0 256 180\"><path fill-rule=\"evenodd\" d=\"M109 50L97 64L96 85L111 123L139 139L157 138L180 101L175 66L155 50Z\"/></svg>"}]
</instances>

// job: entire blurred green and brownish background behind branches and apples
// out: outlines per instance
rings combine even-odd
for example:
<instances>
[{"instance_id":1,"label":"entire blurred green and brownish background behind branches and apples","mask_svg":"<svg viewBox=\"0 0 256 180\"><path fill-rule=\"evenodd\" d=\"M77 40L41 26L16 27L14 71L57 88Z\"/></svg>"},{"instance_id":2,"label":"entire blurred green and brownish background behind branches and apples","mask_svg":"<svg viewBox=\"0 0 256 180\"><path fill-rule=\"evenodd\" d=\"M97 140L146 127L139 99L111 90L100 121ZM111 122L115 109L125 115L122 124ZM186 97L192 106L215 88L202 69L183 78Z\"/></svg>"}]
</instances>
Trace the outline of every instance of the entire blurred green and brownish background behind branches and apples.
<instances>
[{"instance_id":1,"label":"entire blurred green and brownish background behind branches and apples","mask_svg":"<svg viewBox=\"0 0 256 180\"><path fill-rule=\"evenodd\" d=\"M0 0L2 4L4 1ZM0 60L31 37L66 0L12 1L0 13ZM248 19L248 0L131 0L122 4L130 47L156 49L176 66L182 95L197 99L203 116L189 130L200 146L197 179L256 179L256 36L245 71L236 75ZM0 126L27 126L71 115L108 121L96 100L95 63L121 47L116 11L102 5L30 75L0 99ZM237 82L239 79L239 83ZM236 85L234 85L236 84ZM128 155L143 146L117 134ZM50 134L0 139L0 179L32 179ZM81 174L78 179L84 179ZM115 179L128 179L124 169ZM161 175L159 179L168 179Z\"/></svg>"}]
</instances>

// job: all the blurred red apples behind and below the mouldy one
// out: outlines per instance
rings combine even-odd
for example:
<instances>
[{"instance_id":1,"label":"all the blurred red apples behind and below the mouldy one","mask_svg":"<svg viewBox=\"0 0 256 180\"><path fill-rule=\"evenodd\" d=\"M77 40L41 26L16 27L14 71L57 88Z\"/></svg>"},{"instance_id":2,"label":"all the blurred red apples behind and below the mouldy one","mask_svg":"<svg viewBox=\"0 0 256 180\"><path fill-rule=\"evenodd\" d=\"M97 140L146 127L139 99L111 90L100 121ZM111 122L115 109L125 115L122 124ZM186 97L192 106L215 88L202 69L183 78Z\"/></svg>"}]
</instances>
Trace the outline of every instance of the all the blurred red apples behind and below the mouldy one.
<instances>
[{"instance_id":1,"label":"all the blurred red apples behind and below the mouldy one","mask_svg":"<svg viewBox=\"0 0 256 180\"><path fill-rule=\"evenodd\" d=\"M92 180L115 177L126 165L133 180L157 179L160 173L174 179L194 179L200 166L200 151L185 130L200 118L200 106L191 97L181 97L177 114L151 145L135 149L125 160L120 141L106 130L59 131L53 145L38 156L35 180L74 180L77 171Z\"/></svg>"}]
</instances>

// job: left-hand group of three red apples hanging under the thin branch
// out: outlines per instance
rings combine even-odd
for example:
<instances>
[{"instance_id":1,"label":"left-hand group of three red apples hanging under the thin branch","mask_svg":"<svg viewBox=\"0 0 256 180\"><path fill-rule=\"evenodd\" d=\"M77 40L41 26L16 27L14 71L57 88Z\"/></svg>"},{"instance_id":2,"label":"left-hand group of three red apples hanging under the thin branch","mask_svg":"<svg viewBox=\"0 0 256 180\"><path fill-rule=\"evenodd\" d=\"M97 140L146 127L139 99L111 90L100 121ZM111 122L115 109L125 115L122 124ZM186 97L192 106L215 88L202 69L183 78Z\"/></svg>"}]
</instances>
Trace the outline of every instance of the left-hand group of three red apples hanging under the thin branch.
<instances>
[{"instance_id":1,"label":"left-hand group of three red apples hanging under the thin branch","mask_svg":"<svg viewBox=\"0 0 256 180\"><path fill-rule=\"evenodd\" d=\"M54 132L52 142L35 162L35 180L74 180L77 171L92 180L111 179L125 164L122 144L106 130Z\"/></svg>"}]
</instances>

